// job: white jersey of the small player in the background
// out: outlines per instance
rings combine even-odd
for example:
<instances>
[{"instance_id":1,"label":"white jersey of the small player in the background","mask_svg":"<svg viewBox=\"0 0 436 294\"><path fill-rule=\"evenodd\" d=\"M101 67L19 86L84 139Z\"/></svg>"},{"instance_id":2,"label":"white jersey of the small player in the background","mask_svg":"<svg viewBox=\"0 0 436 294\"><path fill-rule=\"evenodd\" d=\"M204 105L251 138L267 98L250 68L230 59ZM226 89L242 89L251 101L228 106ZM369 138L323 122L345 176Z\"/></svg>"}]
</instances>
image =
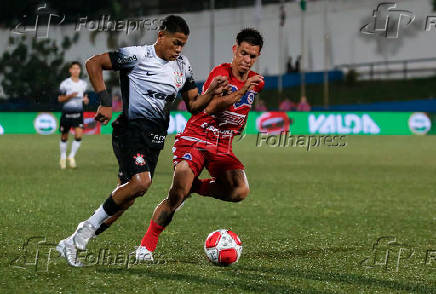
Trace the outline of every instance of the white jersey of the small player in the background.
<instances>
[{"instance_id":1,"label":"white jersey of the small player in the background","mask_svg":"<svg viewBox=\"0 0 436 294\"><path fill-rule=\"evenodd\" d=\"M74 82L71 78L65 79L59 86L61 95L70 95L77 92L76 97L69 99L62 105L62 112L83 112L83 94L86 91L87 84L83 80Z\"/></svg>"}]
</instances>

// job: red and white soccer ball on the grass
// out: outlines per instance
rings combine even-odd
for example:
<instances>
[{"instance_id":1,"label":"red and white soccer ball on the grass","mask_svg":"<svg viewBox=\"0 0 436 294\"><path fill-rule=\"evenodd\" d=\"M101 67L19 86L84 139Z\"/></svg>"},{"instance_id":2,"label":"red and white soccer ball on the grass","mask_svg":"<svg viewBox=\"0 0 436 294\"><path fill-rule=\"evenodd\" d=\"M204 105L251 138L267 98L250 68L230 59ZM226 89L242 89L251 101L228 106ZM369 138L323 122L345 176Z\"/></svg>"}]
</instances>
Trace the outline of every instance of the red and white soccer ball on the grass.
<instances>
[{"instance_id":1,"label":"red and white soccer ball on the grass","mask_svg":"<svg viewBox=\"0 0 436 294\"><path fill-rule=\"evenodd\" d=\"M231 265L241 256L242 242L238 235L230 230L216 230L207 236L204 252L214 264Z\"/></svg>"}]
</instances>

